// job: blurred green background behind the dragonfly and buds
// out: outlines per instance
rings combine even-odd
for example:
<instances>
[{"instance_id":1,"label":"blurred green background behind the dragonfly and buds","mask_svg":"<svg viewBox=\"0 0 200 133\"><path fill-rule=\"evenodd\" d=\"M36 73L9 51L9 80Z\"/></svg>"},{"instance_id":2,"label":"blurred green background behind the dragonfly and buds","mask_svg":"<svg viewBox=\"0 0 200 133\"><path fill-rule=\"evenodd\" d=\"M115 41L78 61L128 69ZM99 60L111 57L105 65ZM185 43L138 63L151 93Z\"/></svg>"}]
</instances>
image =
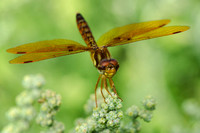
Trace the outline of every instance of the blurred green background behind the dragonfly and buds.
<instances>
[{"instance_id":1,"label":"blurred green background behind the dragonfly and buds","mask_svg":"<svg viewBox=\"0 0 200 133\"><path fill-rule=\"evenodd\" d=\"M182 104L188 99L200 104L199 0L1 0L0 129L8 123L4 114L15 105L27 74L41 73L45 88L62 95L57 119L65 123L67 132L76 118L85 116L83 105L94 93L99 75L89 53L22 65L9 64L17 55L6 53L8 48L41 40L65 38L84 44L76 26L77 12L85 17L96 40L112 28L135 22L171 19L169 25L191 27L181 34L109 50L120 63L113 80L124 110L141 104L149 94L157 100L153 120L142 123L142 133L192 130L197 121Z\"/></svg>"}]
</instances>

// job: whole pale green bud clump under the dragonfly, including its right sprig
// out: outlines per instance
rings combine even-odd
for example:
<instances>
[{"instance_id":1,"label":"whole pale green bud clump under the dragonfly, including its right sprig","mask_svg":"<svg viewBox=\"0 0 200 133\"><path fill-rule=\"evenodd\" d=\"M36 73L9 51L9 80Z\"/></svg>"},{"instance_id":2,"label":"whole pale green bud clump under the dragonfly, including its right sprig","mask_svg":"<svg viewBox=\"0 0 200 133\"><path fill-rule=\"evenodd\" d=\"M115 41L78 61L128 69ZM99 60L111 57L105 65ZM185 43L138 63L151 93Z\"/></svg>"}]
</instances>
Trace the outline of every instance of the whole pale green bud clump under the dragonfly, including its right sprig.
<instances>
[{"instance_id":1,"label":"whole pale green bud clump under the dragonfly, including its right sprig","mask_svg":"<svg viewBox=\"0 0 200 133\"><path fill-rule=\"evenodd\" d=\"M105 102L100 100L100 108L94 108L94 97L92 95L87 105L85 105L87 113L91 112L93 107L92 115L86 119L79 119L72 133L136 133L141 130L138 118L143 119L145 122L150 122L152 111L155 110L156 106L155 99L148 96L142 101L143 108L140 109L138 106L133 105L127 109L125 115L130 119L129 122L123 122L122 101L112 93L112 96L107 95Z\"/></svg>"}]
</instances>

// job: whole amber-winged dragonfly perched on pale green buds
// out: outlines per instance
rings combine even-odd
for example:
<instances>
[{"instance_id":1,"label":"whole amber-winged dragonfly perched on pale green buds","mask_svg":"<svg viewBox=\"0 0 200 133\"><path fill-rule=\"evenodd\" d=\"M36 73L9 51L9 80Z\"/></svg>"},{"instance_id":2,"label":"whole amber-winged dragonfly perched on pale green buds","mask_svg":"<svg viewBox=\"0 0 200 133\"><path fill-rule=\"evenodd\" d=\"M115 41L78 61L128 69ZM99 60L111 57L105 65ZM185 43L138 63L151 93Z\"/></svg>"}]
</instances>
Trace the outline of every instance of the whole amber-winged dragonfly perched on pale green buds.
<instances>
[{"instance_id":1,"label":"whole amber-winged dragonfly perched on pale green buds","mask_svg":"<svg viewBox=\"0 0 200 133\"><path fill-rule=\"evenodd\" d=\"M95 41L92 32L80 13L76 14L78 30L87 44L84 46L78 42L67 39L54 39L23 44L7 50L9 53L22 54L10 61L11 64L26 64L46 60L50 58L90 52L94 66L100 73L95 85L95 104L97 105L97 88L100 84L100 92L105 101L103 88L112 96L108 87L121 99L116 91L112 77L119 69L119 63L111 57L108 47L133 43L141 40L173 35L188 30L189 26L165 26L170 20L156 20L142 23L134 23L111 29ZM109 86L108 86L109 83ZM122 100L122 99L121 99Z\"/></svg>"}]
</instances>

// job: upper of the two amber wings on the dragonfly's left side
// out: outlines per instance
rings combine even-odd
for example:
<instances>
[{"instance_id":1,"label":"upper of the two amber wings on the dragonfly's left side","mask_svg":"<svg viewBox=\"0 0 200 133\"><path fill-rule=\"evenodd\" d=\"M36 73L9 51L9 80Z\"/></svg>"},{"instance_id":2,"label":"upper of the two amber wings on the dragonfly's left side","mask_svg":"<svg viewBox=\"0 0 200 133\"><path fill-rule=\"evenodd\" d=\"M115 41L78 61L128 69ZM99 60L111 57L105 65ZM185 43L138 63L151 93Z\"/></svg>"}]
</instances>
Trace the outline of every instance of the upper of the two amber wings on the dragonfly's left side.
<instances>
[{"instance_id":1,"label":"upper of the two amber wings on the dragonfly's left side","mask_svg":"<svg viewBox=\"0 0 200 133\"><path fill-rule=\"evenodd\" d=\"M60 51L71 53L71 51L77 51L80 49L87 50L87 47L72 40L55 39L55 40L39 41L39 42L20 45L15 48L8 49L7 52L13 54L60 52Z\"/></svg>"}]
</instances>

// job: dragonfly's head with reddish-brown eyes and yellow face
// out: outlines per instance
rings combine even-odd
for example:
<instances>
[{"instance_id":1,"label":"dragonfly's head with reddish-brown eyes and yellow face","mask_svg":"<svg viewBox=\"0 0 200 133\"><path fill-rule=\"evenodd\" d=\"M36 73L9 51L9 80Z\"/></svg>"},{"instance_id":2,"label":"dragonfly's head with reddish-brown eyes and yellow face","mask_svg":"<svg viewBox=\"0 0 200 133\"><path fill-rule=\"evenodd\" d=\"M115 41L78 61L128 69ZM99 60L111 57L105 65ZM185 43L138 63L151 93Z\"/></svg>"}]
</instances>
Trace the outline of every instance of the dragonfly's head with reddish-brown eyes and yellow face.
<instances>
[{"instance_id":1,"label":"dragonfly's head with reddish-brown eyes and yellow face","mask_svg":"<svg viewBox=\"0 0 200 133\"><path fill-rule=\"evenodd\" d=\"M119 63L115 59L103 59L99 64L99 71L107 78L112 78L119 68Z\"/></svg>"}]
</instances>

